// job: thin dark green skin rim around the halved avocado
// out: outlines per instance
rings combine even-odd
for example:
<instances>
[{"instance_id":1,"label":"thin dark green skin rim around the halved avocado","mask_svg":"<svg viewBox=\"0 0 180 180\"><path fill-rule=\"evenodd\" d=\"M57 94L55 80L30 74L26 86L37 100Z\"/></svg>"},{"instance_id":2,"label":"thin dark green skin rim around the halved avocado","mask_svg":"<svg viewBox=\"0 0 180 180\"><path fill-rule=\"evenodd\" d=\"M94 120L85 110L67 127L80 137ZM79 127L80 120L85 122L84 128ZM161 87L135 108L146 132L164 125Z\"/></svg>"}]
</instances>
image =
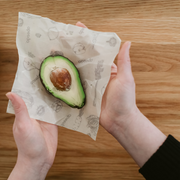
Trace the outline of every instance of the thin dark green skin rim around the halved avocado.
<instances>
[{"instance_id":1,"label":"thin dark green skin rim around the halved avocado","mask_svg":"<svg viewBox=\"0 0 180 180\"><path fill-rule=\"evenodd\" d=\"M57 56L64 57L64 58L68 59L67 57L62 56L62 55L55 55L55 56L49 55L49 56L47 56L46 58L44 58L44 60L47 59L48 57L57 57ZM40 69L41 69L41 66L42 66L44 60L41 62ZM68 60L69 60L69 59L68 59ZM74 63L73 63L71 60L69 60L69 61L74 65ZM74 67L76 67L76 66L74 65ZM77 68L76 68L76 69L77 69ZM77 71L78 71L78 74L79 74L79 77L80 77L79 70L77 69ZM40 73L41 73L41 71L39 71L40 81L41 81L42 85L44 86L46 92L48 92L48 94L52 95L52 96L55 97L56 99L59 99L59 98L57 98L56 96L54 96L52 93L50 93L50 92L46 89L46 86L45 86L44 83L43 83L43 80L42 80L42 78L41 78ZM80 82L81 82L81 85L82 85L81 78L79 78L79 79L80 79ZM82 88L83 88L83 91L84 91L84 87L83 87L83 86L82 86ZM84 91L84 93L85 93L85 91ZM60 99L60 100L63 101L62 99ZM63 101L63 102L66 103L65 101ZM84 101L83 101L83 102L84 102L84 104L83 104L83 106L81 106L81 107L79 107L79 106L72 106L72 105L67 104L67 103L66 103L66 104L67 104L68 106L72 107L72 108L81 109L81 108L83 108L83 107L85 106L85 104L86 104L86 94L85 94L85 98L84 98Z\"/></svg>"}]
</instances>

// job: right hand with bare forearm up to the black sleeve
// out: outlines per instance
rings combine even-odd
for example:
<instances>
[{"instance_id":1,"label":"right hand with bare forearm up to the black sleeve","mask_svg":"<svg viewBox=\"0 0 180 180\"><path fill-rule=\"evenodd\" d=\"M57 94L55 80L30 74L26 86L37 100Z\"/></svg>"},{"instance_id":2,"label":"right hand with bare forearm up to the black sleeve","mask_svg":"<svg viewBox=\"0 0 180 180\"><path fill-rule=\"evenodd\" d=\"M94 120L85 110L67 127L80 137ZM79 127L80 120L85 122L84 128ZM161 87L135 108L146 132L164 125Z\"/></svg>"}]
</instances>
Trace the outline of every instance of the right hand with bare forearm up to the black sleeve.
<instances>
[{"instance_id":1,"label":"right hand with bare forearm up to the black sleeve","mask_svg":"<svg viewBox=\"0 0 180 180\"><path fill-rule=\"evenodd\" d=\"M137 108L135 82L126 42L113 65L102 100L100 123L142 167L163 144L166 136ZM106 103L108 102L108 103Z\"/></svg>"}]
</instances>

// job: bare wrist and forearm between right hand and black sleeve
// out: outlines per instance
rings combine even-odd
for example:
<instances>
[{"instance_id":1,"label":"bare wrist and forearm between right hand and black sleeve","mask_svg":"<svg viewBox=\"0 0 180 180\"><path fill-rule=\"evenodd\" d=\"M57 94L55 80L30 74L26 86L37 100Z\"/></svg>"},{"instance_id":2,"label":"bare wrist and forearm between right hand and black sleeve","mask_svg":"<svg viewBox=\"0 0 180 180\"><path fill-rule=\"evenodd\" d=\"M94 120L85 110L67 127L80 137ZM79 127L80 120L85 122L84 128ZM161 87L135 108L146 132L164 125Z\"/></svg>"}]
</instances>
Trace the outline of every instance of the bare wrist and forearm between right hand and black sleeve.
<instances>
[{"instance_id":1,"label":"bare wrist and forearm between right hand and black sleeve","mask_svg":"<svg viewBox=\"0 0 180 180\"><path fill-rule=\"evenodd\" d=\"M154 126L140 111L136 111L127 118L127 124L117 125L111 134L142 167L145 162L163 144L166 136ZM121 121L121 118L119 118Z\"/></svg>"}]
</instances>

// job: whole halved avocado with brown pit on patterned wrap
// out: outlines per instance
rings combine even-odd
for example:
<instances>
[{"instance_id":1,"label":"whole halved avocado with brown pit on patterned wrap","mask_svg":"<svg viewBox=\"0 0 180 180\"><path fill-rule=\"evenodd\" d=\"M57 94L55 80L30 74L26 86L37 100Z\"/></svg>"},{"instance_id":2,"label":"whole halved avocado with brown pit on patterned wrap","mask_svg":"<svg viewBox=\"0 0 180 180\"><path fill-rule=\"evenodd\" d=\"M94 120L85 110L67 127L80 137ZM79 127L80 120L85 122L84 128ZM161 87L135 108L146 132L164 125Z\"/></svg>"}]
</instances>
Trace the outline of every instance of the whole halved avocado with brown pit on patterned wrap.
<instances>
[{"instance_id":1,"label":"whole halved avocado with brown pit on patterned wrap","mask_svg":"<svg viewBox=\"0 0 180 180\"><path fill-rule=\"evenodd\" d=\"M48 56L41 63L40 80L45 89L54 97L72 108L82 108L86 103L80 74L68 58Z\"/></svg>"}]
</instances>

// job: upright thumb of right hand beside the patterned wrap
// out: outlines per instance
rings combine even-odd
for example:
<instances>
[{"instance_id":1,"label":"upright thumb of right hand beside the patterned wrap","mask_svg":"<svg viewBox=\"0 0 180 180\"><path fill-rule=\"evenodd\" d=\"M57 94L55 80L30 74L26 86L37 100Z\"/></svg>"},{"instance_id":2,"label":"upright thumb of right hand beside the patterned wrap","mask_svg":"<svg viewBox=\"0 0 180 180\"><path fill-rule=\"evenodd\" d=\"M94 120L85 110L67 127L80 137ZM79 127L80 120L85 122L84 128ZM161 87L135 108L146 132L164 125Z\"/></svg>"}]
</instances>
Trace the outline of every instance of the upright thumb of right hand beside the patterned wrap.
<instances>
[{"instance_id":1,"label":"upright thumb of right hand beside the patterned wrap","mask_svg":"<svg viewBox=\"0 0 180 180\"><path fill-rule=\"evenodd\" d=\"M117 57L117 76L125 79L133 77L131 70L131 61L129 57L129 49L131 42L127 41L123 44Z\"/></svg>"}]
</instances>

